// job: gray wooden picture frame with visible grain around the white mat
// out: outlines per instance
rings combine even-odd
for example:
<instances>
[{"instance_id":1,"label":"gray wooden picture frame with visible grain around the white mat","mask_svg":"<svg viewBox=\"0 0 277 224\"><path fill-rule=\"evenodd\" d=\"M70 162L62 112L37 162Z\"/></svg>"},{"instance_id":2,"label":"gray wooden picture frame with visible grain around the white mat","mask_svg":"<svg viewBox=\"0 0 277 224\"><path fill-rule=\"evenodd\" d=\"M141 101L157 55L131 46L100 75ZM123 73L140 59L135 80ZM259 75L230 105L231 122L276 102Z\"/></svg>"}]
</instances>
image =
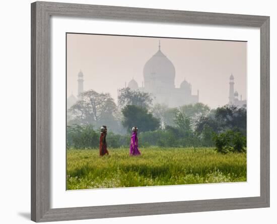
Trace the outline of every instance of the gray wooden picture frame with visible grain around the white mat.
<instances>
[{"instance_id":1,"label":"gray wooden picture frame with visible grain around the white mat","mask_svg":"<svg viewBox=\"0 0 277 224\"><path fill-rule=\"evenodd\" d=\"M50 17L191 23L260 29L260 196L50 208ZM251 96L249 96L251 97ZM31 4L31 219L36 222L269 207L269 17L35 2Z\"/></svg>"}]
</instances>

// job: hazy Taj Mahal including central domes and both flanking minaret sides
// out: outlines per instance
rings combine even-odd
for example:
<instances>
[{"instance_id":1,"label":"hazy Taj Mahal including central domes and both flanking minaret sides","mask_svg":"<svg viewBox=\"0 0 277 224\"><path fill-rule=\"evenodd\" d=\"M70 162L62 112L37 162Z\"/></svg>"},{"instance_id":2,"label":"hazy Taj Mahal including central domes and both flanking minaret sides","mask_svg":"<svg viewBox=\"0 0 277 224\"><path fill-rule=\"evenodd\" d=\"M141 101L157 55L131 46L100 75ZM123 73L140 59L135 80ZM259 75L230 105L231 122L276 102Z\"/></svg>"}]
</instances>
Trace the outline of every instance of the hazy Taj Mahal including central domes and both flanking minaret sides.
<instances>
[{"instance_id":1,"label":"hazy Taj Mahal including central domes and both flanking minaret sides","mask_svg":"<svg viewBox=\"0 0 277 224\"><path fill-rule=\"evenodd\" d=\"M143 68L142 86L139 87L137 82L132 78L128 85L125 82L125 88L148 92L153 96L153 104L166 104L169 107L178 107L186 104L193 104L199 101L199 90L197 95L191 94L191 84L185 79L181 82L180 87L175 87L175 67L161 50L159 41L158 51L146 62ZM84 74L80 70L78 73L78 95L73 93L67 98L67 109L74 105L80 94L84 91ZM234 76L229 78L229 105L246 107L247 101L242 100L242 96L237 91L234 92Z\"/></svg>"}]
</instances>

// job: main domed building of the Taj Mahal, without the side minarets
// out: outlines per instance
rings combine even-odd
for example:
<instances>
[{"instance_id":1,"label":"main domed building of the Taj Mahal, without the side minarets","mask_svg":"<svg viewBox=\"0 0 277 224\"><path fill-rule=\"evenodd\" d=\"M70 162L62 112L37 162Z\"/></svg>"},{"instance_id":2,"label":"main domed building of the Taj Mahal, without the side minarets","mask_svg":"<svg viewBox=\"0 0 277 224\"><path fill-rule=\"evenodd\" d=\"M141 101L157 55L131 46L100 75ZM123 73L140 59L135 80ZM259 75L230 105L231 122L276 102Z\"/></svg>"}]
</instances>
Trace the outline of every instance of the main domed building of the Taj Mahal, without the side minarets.
<instances>
[{"instance_id":1,"label":"main domed building of the Taj Mahal, without the side minarets","mask_svg":"<svg viewBox=\"0 0 277 224\"><path fill-rule=\"evenodd\" d=\"M180 88L175 88L175 68L173 63L159 49L149 59L143 69L144 82L138 87L137 82L132 79L128 83L131 90L141 90L149 92L154 96L154 103L165 103L169 107L196 103L199 100L199 91L197 95L191 94L191 84L185 79L180 84Z\"/></svg>"}]
</instances>

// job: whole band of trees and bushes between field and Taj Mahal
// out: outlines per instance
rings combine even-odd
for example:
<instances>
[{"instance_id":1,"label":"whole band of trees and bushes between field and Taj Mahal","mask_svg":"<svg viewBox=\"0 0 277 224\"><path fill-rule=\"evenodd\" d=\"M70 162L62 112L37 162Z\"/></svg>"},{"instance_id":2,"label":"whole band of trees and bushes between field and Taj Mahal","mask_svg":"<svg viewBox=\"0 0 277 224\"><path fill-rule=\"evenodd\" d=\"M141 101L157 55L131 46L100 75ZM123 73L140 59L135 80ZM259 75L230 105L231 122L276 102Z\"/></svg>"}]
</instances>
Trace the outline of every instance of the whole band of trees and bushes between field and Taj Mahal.
<instances>
[{"instance_id":1,"label":"whole band of trees and bushes between field and Taj Mahal","mask_svg":"<svg viewBox=\"0 0 277 224\"><path fill-rule=\"evenodd\" d=\"M88 147L102 125L108 126L109 141L117 147L129 144L133 126L138 126L141 146L219 146L221 152L243 151L246 147L244 107L224 105L211 109L203 103L194 103L169 108L165 104L152 105L152 102L151 94L129 88L119 90L118 105L109 93L83 92L68 109L68 147L82 148L78 140L81 136L83 140L91 138L84 140L84 148Z\"/></svg>"}]
</instances>

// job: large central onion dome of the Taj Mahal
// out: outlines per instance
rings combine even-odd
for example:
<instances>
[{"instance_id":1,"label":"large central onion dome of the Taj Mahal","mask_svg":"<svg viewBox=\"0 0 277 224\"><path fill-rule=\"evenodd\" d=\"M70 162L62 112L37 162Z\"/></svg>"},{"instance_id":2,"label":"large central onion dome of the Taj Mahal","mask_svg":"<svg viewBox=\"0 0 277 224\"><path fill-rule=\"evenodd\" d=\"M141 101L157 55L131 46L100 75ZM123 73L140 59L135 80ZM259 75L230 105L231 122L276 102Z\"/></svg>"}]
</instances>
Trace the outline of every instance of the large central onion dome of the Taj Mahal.
<instances>
[{"instance_id":1,"label":"large central onion dome of the Taj Mahal","mask_svg":"<svg viewBox=\"0 0 277 224\"><path fill-rule=\"evenodd\" d=\"M172 62L159 50L147 61L144 66L145 84L149 82L160 82L174 87L175 68Z\"/></svg>"}]
</instances>

